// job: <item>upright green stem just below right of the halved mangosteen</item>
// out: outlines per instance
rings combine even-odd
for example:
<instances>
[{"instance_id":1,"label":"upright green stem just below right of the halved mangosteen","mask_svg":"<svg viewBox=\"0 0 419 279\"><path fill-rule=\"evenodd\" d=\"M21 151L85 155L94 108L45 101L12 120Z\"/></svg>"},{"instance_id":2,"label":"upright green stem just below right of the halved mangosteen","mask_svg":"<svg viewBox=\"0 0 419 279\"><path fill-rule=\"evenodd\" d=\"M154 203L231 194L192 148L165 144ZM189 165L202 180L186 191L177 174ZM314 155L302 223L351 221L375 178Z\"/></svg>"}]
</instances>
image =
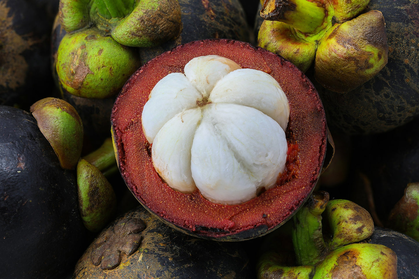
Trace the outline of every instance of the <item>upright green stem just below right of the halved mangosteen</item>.
<instances>
[{"instance_id":1,"label":"upright green stem just below right of the halved mangosteen","mask_svg":"<svg viewBox=\"0 0 419 279\"><path fill-rule=\"evenodd\" d=\"M292 244L297 265L316 265L326 255L321 214L328 200L327 192L315 193L292 218Z\"/></svg>"}]
</instances>

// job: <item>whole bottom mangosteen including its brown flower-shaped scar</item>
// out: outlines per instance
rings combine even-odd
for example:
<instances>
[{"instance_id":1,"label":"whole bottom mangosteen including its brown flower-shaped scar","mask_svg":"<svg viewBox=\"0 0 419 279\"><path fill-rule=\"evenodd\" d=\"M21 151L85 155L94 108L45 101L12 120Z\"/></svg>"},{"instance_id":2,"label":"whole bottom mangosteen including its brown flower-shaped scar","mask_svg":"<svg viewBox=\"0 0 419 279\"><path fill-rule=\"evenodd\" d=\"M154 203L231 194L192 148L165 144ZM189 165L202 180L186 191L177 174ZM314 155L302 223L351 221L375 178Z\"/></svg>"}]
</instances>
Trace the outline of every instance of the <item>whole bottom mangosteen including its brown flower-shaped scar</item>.
<instances>
[{"instance_id":1,"label":"whole bottom mangosteen including its brown flower-shaped scar","mask_svg":"<svg viewBox=\"0 0 419 279\"><path fill-rule=\"evenodd\" d=\"M254 278L239 243L215 242L166 226L143 207L104 229L75 266L81 278Z\"/></svg>"}]
</instances>

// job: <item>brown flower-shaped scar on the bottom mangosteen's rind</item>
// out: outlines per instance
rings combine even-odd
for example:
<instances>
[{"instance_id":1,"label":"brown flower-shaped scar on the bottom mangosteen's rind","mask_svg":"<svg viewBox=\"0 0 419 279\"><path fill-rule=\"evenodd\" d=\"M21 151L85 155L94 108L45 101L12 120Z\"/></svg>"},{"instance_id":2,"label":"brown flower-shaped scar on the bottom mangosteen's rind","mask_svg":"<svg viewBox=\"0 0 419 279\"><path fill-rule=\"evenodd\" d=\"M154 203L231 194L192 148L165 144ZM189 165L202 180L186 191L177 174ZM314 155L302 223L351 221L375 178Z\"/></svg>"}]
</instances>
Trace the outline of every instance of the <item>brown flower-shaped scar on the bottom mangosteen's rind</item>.
<instances>
[{"instance_id":1,"label":"brown flower-shaped scar on the bottom mangosteen's rind","mask_svg":"<svg viewBox=\"0 0 419 279\"><path fill-rule=\"evenodd\" d=\"M145 224L139 218L120 220L96 239L90 256L92 264L100 264L105 270L114 269L121 262L121 252L129 256L138 249L144 229Z\"/></svg>"}]
</instances>

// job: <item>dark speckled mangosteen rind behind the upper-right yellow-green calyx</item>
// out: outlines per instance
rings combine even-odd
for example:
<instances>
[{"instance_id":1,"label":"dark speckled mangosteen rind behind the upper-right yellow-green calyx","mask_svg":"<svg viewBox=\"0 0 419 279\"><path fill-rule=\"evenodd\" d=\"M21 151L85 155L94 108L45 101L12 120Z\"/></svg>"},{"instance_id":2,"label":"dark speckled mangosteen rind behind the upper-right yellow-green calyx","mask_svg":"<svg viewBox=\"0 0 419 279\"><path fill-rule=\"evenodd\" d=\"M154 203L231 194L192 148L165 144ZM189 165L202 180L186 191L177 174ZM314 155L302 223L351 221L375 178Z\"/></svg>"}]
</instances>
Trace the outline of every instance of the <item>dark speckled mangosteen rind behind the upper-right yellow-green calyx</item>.
<instances>
[{"instance_id":1,"label":"dark speckled mangosteen rind behind the upper-right yellow-green calyx","mask_svg":"<svg viewBox=\"0 0 419 279\"><path fill-rule=\"evenodd\" d=\"M388 63L370 81L339 94L316 85L328 125L349 134L389 131L419 114L419 6L414 0L371 0L383 13Z\"/></svg>"}]
</instances>

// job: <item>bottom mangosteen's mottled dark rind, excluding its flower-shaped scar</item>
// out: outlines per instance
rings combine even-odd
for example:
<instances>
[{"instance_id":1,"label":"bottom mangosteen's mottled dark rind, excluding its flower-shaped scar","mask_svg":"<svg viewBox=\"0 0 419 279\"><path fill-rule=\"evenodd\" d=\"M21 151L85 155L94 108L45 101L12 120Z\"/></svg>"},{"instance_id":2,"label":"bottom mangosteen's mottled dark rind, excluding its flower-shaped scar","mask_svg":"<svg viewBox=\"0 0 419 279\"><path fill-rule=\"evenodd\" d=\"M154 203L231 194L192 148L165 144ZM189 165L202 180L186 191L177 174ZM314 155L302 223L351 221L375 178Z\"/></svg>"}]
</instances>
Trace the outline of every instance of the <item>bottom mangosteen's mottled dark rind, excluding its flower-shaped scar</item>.
<instances>
[{"instance_id":1,"label":"bottom mangosteen's mottled dark rind, excluding its flower-shaped scar","mask_svg":"<svg viewBox=\"0 0 419 279\"><path fill-rule=\"evenodd\" d=\"M94 266L87 248L75 267L74 279L82 278L253 278L249 259L239 243L215 242L194 238L164 225L144 208L127 212L119 218L140 218L145 223L141 243L130 256L121 255L114 269ZM111 230L116 220L108 228ZM99 235L99 238L101 236Z\"/></svg>"}]
</instances>

